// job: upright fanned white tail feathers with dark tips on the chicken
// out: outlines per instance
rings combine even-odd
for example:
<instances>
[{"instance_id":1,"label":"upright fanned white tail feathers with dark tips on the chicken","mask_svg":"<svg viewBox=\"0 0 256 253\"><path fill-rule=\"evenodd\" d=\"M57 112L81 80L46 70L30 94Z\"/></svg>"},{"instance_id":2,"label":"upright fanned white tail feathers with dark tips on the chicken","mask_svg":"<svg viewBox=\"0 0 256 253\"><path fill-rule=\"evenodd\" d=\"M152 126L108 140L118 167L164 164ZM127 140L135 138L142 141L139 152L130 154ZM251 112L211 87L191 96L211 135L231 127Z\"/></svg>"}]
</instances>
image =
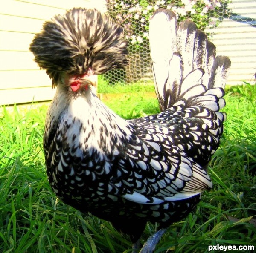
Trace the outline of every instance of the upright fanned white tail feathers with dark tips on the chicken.
<instances>
[{"instance_id":1,"label":"upright fanned white tail feathers with dark tips on the chicken","mask_svg":"<svg viewBox=\"0 0 256 253\"><path fill-rule=\"evenodd\" d=\"M209 89L211 92L207 92L205 98L209 98L208 95L223 96L215 88L224 88L230 60L225 56L215 57L214 44L194 22L186 20L178 27L176 23L172 11L158 9L149 25L154 85L160 109L168 109L186 99L189 106L201 105L216 111L224 106L222 100L209 99L202 103L196 97Z\"/></svg>"}]
</instances>

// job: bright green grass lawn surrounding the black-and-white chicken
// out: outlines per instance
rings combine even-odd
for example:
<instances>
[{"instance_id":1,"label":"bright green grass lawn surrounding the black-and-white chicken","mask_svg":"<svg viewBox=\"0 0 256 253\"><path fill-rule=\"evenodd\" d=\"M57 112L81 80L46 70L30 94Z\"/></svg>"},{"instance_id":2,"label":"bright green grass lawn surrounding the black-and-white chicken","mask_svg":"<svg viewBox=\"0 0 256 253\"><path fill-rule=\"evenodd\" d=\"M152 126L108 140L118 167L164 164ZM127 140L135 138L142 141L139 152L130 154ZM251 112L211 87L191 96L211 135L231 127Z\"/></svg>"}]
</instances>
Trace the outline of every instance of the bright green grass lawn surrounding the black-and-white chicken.
<instances>
[{"instance_id":1,"label":"bright green grass lawn surrounding the black-and-white chicken","mask_svg":"<svg viewBox=\"0 0 256 253\"><path fill-rule=\"evenodd\" d=\"M125 118L158 112L156 99L144 92L138 88L121 102L106 103ZM193 213L169 227L156 253L204 253L217 244L256 247L256 86L230 88L225 98L221 147L209 165L213 188ZM131 252L129 239L109 222L81 215L52 193L42 151L47 107L3 108L0 114L0 252ZM142 241L155 229L148 224Z\"/></svg>"}]
</instances>

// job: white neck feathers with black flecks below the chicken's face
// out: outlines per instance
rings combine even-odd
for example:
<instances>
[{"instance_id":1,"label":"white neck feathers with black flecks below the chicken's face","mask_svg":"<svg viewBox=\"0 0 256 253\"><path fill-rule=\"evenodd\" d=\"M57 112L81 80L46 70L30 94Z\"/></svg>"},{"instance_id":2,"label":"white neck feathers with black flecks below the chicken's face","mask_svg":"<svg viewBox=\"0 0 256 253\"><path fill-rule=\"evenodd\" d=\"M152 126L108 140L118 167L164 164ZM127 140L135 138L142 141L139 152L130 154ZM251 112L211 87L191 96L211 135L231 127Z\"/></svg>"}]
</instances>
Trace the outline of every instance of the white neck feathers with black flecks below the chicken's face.
<instances>
[{"instance_id":1,"label":"white neck feathers with black flecks below the chicken's face","mask_svg":"<svg viewBox=\"0 0 256 253\"><path fill-rule=\"evenodd\" d=\"M114 154L118 151L113 150L113 142L121 144L131 135L128 121L105 106L91 89L74 96L61 86L57 87L46 122L46 134L49 135L57 124L65 131L69 144L81 146L76 149L77 156L82 155L81 150Z\"/></svg>"}]
</instances>

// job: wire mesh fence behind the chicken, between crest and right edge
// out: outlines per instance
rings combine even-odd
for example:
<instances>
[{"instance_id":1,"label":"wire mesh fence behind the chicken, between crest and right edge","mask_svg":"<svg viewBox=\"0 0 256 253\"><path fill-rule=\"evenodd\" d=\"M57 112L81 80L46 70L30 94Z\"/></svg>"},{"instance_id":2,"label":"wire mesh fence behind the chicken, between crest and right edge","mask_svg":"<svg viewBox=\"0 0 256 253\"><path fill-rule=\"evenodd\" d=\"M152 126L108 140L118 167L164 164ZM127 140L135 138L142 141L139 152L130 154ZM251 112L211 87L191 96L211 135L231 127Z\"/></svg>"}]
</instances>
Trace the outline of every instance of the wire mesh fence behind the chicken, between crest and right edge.
<instances>
[{"instance_id":1,"label":"wire mesh fence behind the chicken, between crest and right edge","mask_svg":"<svg viewBox=\"0 0 256 253\"><path fill-rule=\"evenodd\" d=\"M233 3L231 3L230 0L107 0L106 2L108 15L114 22L119 23L123 27L125 39L129 42L128 66L125 69L114 69L104 75L104 78L110 84L120 82L152 82L153 77L151 73L148 25L151 15L158 8L172 9L177 15L177 22L186 18L193 20L198 28L206 32L211 39L212 35L217 33L217 39L213 38L213 42L218 47L220 54L234 58L231 59L234 63L234 68L233 70L231 69L231 76L238 75L238 72L241 72L239 77L233 77L234 82L243 79L248 80L249 76L252 77L255 73L255 71L253 72L253 68L256 67L256 64L253 65L255 60L252 60L251 58L244 58L242 60L237 58L237 56L241 56L241 54L243 54L243 56L248 54L248 57L252 57L253 53L248 51L248 47L250 50L253 50L254 53L256 52L256 6L251 0L233 0ZM243 11L247 6L247 13L235 13L234 9L232 9L234 5L236 8L239 8L240 6ZM230 6L232 8L230 8ZM252 6L252 8L250 6ZM218 31L220 30L216 29L219 26L223 26L221 25L223 20L232 22L236 20L234 23L238 23L238 26L241 26L241 24L244 26L241 26L241 29L238 32L236 31L235 25L227 23L226 27L221 27L221 32L224 32L224 35L218 40ZM233 41L232 43L235 43L235 46L226 49L225 45L227 45L227 41L224 40L224 38L227 38L227 40L239 40L239 37L241 37L242 40L245 26L250 26L249 29L254 28L249 35L250 40L246 41L248 46L246 46L244 50L247 53L244 55L244 50L239 45L239 43L244 45L244 43L246 43L245 41ZM159 27L159 29L161 29L161 27ZM237 35L233 35L233 32ZM223 53L221 51L222 48ZM236 64L243 61L244 66L242 67L243 70L241 70L241 65L236 66ZM245 76L245 72L247 72L247 76ZM230 82L232 82L232 80Z\"/></svg>"}]
</instances>

